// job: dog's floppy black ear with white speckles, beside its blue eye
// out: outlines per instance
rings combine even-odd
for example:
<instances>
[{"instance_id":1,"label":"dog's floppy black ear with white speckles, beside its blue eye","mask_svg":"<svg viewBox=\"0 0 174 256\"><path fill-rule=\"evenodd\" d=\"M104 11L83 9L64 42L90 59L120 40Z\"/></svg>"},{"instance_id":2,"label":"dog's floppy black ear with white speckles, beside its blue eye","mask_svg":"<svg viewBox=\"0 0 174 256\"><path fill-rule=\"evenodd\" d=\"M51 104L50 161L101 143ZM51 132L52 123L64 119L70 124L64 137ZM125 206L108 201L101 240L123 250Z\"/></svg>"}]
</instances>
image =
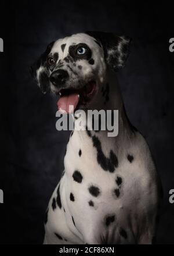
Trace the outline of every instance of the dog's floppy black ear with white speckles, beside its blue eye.
<instances>
[{"instance_id":1,"label":"dog's floppy black ear with white speckles, beside its blue eye","mask_svg":"<svg viewBox=\"0 0 174 256\"><path fill-rule=\"evenodd\" d=\"M129 55L131 38L115 33L87 31L86 34L95 38L97 44L103 47L107 65L117 70L125 65Z\"/></svg>"}]
</instances>

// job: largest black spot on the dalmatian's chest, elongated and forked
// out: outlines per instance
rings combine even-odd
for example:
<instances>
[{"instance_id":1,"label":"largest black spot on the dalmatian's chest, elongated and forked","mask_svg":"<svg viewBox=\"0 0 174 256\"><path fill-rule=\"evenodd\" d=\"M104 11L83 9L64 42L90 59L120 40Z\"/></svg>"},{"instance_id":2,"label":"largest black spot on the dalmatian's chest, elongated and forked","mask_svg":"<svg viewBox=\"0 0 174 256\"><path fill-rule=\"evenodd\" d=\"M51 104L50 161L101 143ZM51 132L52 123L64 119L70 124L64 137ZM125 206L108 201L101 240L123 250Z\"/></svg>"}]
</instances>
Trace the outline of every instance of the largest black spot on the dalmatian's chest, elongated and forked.
<instances>
[{"instance_id":1,"label":"largest black spot on the dalmatian's chest, elongated and forked","mask_svg":"<svg viewBox=\"0 0 174 256\"><path fill-rule=\"evenodd\" d=\"M118 167L118 159L114 152L110 151L110 157L105 157L102 151L102 145L100 143L99 138L96 136L92 136L93 146L97 150L97 162L103 168L103 170L108 170L109 172L114 172L115 168Z\"/></svg>"}]
</instances>

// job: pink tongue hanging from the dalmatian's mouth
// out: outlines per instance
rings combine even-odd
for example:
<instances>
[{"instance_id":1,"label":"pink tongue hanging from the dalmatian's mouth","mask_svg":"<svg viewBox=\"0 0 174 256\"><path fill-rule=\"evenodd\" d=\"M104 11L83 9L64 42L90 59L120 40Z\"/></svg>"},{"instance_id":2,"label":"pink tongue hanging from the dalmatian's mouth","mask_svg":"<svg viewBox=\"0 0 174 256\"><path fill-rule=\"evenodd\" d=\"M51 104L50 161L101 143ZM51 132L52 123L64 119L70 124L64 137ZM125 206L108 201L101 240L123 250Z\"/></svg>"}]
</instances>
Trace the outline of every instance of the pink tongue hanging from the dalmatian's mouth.
<instances>
[{"instance_id":1,"label":"pink tongue hanging from the dalmatian's mouth","mask_svg":"<svg viewBox=\"0 0 174 256\"><path fill-rule=\"evenodd\" d=\"M78 101L79 101L78 94L70 94L68 96L60 97L59 101L57 101L57 106L60 112L71 113L73 112L73 110L75 111Z\"/></svg>"}]
</instances>

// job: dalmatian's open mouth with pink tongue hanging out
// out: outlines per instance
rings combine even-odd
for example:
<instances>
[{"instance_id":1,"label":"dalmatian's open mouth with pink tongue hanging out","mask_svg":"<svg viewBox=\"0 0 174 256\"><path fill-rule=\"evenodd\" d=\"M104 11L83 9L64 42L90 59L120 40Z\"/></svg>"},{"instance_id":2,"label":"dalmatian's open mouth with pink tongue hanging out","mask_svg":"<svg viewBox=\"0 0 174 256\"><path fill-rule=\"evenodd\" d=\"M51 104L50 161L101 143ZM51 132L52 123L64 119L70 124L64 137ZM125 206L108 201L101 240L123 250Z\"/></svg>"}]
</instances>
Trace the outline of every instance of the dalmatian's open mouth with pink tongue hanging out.
<instances>
[{"instance_id":1,"label":"dalmatian's open mouth with pink tongue hanging out","mask_svg":"<svg viewBox=\"0 0 174 256\"><path fill-rule=\"evenodd\" d=\"M60 90L60 98L57 101L57 107L62 113L71 113L77 109L79 105L86 105L93 97L97 89L96 82L90 81L81 89L62 89Z\"/></svg>"}]
</instances>

